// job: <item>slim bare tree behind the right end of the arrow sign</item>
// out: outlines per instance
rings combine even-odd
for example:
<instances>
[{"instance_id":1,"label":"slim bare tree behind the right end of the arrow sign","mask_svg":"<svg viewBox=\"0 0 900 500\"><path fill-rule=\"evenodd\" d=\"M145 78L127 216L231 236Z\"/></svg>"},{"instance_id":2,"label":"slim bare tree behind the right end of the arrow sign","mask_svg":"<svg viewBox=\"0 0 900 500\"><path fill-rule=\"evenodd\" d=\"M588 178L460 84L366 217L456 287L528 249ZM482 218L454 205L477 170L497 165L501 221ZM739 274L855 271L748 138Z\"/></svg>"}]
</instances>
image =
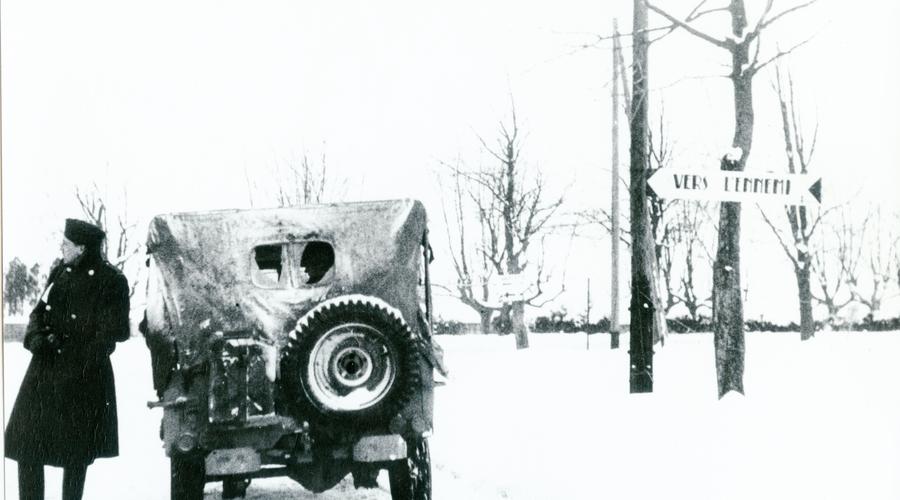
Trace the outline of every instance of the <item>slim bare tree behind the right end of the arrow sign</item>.
<instances>
[{"instance_id":1,"label":"slim bare tree behind the right end of the arrow sign","mask_svg":"<svg viewBox=\"0 0 900 500\"><path fill-rule=\"evenodd\" d=\"M787 170L791 174L807 174L809 173L809 167L816 149L818 124L813 130L812 139L807 140L797 112L794 80L790 72L782 76L780 64L775 65L775 90L778 93L778 103L781 111ZM781 248L794 267L794 276L797 280L797 297L800 303L800 339L809 340L815 335L812 281L810 279L813 253L810 250L810 240L819 228L819 223L827 213L827 210L808 208L803 205L785 207L784 215L790 228L788 236L783 234L780 227L769 219L764 211L760 210L760 213L766 224L778 238Z\"/></svg>"}]
</instances>

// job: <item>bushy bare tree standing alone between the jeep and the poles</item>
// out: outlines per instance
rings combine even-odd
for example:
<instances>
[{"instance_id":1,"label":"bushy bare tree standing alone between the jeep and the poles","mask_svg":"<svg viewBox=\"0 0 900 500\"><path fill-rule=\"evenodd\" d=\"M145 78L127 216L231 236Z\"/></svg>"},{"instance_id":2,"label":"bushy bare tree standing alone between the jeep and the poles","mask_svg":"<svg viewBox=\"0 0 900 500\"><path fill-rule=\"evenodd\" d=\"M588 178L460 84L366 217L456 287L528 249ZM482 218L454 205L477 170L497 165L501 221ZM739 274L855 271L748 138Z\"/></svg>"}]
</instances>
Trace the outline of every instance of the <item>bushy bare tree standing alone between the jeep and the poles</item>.
<instances>
[{"instance_id":1,"label":"bushy bare tree standing alone between the jeep and the poles","mask_svg":"<svg viewBox=\"0 0 900 500\"><path fill-rule=\"evenodd\" d=\"M560 288L553 296L546 293L549 276L543 259L544 238L563 198L548 200L540 173L529 173L521 163L522 137L514 105L509 122L500 123L496 142L489 144L481 137L479 141L496 161L494 166L468 170L459 162L445 165L454 179L452 210L457 227L450 240L451 247L456 247L451 249L458 277L455 292L479 313L483 326L499 311L501 325L516 335L516 346L527 348L524 306L540 307L563 291ZM445 220L450 231L446 208ZM472 227L477 228L475 235ZM534 250L540 252L539 258L533 256ZM491 276L516 275L531 268L533 281L526 296L502 305L487 302Z\"/></svg>"}]
</instances>

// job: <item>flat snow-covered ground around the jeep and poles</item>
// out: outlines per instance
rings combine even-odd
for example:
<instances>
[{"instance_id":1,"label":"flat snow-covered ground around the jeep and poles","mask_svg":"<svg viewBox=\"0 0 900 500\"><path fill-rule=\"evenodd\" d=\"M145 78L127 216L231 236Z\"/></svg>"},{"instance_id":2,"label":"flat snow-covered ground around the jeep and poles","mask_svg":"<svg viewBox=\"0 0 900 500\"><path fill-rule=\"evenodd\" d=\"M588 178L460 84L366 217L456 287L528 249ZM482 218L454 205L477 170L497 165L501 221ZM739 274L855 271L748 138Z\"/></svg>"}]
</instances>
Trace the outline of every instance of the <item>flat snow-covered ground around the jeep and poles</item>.
<instances>
[{"instance_id":1,"label":"flat snow-covered ground around the jeep and poles","mask_svg":"<svg viewBox=\"0 0 900 500\"><path fill-rule=\"evenodd\" d=\"M900 498L900 332L750 333L744 397L716 397L712 336L657 348L652 394L628 394L628 346L605 335L441 337L452 370L436 391L434 497L467 499ZM4 353L6 416L28 362ZM141 339L113 355L121 456L89 469L85 498L167 498L149 356ZM5 463L16 498L15 463ZM60 473L47 469L47 498ZM345 480L319 496L257 480L249 498L388 499ZM221 486L207 485L209 498Z\"/></svg>"}]
</instances>

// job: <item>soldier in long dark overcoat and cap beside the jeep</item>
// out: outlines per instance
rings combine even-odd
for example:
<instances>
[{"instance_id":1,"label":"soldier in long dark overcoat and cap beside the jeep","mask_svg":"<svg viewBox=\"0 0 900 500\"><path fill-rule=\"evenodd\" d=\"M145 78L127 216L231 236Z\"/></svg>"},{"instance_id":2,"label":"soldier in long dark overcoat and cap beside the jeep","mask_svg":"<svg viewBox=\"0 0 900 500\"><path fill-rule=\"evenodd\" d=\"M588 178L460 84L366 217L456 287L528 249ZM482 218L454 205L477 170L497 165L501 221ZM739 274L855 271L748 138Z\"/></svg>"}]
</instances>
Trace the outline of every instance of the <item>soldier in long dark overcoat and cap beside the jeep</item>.
<instances>
[{"instance_id":1,"label":"soldier in long dark overcoat and cap beside the jeep","mask_svg":"<svg viewBox=\"0 0 900 500\"><path fill-rule=\"evenodd\" d=\"M87 466L119 454L109 355L129 335L128 281L102 255L102 229L66 219L64 236L28 320L31 363L6 427L21 500L44 498L45 465L64 468L62 498L79 500Z\"/></svg>"}]
</instances>

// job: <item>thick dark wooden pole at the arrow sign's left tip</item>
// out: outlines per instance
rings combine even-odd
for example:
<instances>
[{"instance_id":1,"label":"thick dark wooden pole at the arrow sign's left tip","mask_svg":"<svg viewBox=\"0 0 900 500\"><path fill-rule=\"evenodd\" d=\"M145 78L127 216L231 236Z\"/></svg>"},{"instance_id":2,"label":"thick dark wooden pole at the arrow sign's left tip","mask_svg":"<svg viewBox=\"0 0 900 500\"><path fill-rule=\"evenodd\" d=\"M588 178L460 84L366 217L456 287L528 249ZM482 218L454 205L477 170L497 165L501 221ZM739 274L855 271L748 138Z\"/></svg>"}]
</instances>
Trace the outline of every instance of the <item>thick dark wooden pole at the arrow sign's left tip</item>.
<instances>
[{"instance_id":1,"label":"thick dark wooden pole at the arrow sign's left tip","mask_svg":"<svg viewBox=\"0 0 900 500\"><path fill-rule=\"evenodd\" d=\"M631 325L629 385L632 393L653 392L653 237L647 205L649 97L647 4L634 0L631 98Z\"/></svg>"}]
</instances>

